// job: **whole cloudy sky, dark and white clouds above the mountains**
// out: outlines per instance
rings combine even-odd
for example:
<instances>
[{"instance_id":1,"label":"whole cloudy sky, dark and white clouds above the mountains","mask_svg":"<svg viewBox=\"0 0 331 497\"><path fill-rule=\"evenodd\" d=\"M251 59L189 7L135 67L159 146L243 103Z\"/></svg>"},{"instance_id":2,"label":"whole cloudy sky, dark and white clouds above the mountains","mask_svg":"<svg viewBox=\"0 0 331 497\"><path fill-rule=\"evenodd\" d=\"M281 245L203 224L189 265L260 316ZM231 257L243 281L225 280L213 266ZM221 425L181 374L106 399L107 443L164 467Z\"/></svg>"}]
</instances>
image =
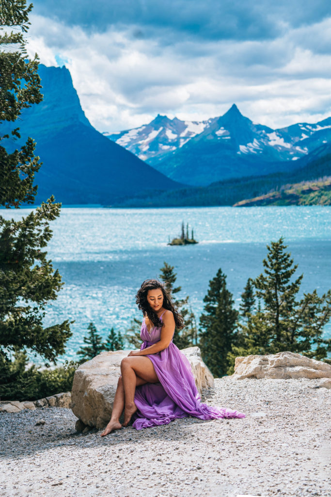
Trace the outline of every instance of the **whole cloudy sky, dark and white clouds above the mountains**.
<instances>
[{"instance_id":1,"label":"whole cloudy sky, dark and white clouds above the mountains","mask_svg":"<svg viewBox=\"0 0 331 497\"><path fill-rule=\"evenodd\" d=\"M29 52L69 69L99 131L232 103L284 127L331 116L329 0L33 0Z\"/></svg>"}]
</instances>

